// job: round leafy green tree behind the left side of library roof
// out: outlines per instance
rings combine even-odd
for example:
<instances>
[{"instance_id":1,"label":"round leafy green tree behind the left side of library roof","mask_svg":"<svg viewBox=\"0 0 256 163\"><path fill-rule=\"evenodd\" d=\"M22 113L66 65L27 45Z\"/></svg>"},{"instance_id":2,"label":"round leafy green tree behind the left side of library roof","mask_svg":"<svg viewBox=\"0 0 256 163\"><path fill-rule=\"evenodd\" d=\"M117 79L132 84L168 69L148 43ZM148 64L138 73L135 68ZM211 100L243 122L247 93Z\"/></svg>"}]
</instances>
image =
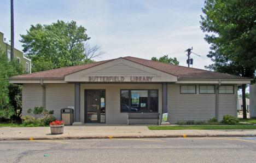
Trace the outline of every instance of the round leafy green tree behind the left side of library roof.
<instances>
[{"instance_id":1,"label":"round leafy green tree behind the left side of library roof","mask_svg":"<svg viewBox=\"0 0 256 163\"><path fill-rule=\"evenodd\" d=\"M88 59L84 54L84 43L90 39L85 32L86 29L78 27L75 21L31 25L27 34L20 35L20 42L32 61L32 72L94 62L92 56Z\"/></svg>"}]
</instances>

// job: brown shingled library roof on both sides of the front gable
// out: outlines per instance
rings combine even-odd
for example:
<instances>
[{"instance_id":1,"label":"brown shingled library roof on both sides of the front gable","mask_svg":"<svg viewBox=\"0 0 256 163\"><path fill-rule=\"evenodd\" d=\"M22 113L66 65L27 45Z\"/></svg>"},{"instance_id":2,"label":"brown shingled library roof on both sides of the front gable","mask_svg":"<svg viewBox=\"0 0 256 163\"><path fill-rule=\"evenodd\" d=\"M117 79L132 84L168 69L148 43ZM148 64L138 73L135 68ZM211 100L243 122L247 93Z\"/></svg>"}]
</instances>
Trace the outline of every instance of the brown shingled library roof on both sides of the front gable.
<instances>
[{"instance_id":1,"label":"brown shingled library roof on both sides of the front gable","mask_svg":"<svg viewBox=\"0 0 256 163\"><path fill-rule=\"evenodd\" d=\"M177 66L177 65L170 65L167 63L162 62L156 62L151 60L144 60L139 59L136 57L123 57L123 59L139 63L144 66L148 66L154 69L158 69L159 71L166 72L168 74L172 74L178 78L193 78L193 79L249 79L245 77L240 77L236 75L230 75L225 73L218 73L218 72L212 72L212 71L206 71L203 69L196 69L196 68L188 68L184 66ZM97 65L100 65L102 63L106 63L112 60L106 60L106 61L100 61L95 63L89 63L86 65L78 65L78 66L71 66L71 67L65 67L65 68L57 68L52 69L49 71L42 71L32 74L24 74L24 75L18 75L12 78L63 78L65 75L82 71L83 69L94 67Z\"/></svg>"}]
</instances>

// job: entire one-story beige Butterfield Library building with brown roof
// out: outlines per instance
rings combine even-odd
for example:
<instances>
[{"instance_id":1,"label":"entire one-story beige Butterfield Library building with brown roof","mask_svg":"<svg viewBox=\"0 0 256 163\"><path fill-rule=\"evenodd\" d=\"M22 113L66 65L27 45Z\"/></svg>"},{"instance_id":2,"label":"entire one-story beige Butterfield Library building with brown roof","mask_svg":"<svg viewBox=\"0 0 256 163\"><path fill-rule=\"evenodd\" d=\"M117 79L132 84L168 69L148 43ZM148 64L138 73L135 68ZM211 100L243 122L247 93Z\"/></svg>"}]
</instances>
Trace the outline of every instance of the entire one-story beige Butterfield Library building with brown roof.
<instances>
[{"instance_id":1,"label":"entire one-story beige Butterfield Library building with brown roof","mask_svg":"<svg viewBox=\"0 0 256 163\"><path fill-rule=\"evenodd\" d=\"M168 113L167 121L237 117L237 85L251 79L166 63L118 59L53 69L9 78L22 84L22 116L43 106L74 108L75 123L126 124L127 114ZM130 124L156 124L157 119L130 119Z\"/></svg>"}]
</instances>

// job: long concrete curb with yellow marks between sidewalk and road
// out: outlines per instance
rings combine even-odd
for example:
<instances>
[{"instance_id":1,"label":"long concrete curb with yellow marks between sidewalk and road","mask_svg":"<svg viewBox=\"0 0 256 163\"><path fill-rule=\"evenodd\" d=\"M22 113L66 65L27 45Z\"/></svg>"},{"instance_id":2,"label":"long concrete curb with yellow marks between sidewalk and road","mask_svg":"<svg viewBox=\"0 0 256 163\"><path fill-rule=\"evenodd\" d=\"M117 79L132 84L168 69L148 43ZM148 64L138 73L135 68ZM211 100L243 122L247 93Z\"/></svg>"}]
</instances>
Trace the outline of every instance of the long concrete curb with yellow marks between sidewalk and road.
<instances>
[{"instance_id":1,"label":"long concrete curb with yellow marks between sidewalk and road","mask_svg":"<svg viewBox=\"0 0 256 163\"><path fill-rule=\"evenodd\" d=\"M178 138L178 137L255 137L255 134L232 135L154 135L154 136L82 136L82 137L6 137L0 141L29 141L29 140L53 140L53 139L118 139L118 138Z\"/></svg>"}]
</instances>

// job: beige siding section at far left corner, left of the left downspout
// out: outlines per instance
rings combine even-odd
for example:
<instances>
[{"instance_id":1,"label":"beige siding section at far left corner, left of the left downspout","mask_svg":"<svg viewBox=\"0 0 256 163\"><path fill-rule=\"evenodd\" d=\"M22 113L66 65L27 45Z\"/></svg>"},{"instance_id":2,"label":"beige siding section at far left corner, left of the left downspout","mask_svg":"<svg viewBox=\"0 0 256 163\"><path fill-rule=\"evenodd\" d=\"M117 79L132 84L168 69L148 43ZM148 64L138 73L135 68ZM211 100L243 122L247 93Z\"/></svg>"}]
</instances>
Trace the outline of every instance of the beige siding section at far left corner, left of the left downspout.
<instances>
[{"instance_id":1,"label":"beige siding section at far left corner, left of the left downspout","mask_svg":"<svg viewBox=\"0 0 256 163\"><path fill-rule=\"evenodd\" d=\"M40 84L23 84L22 116L27 115L28 109L43 106L43 88Z\"/></svg>"}]
</instances>

